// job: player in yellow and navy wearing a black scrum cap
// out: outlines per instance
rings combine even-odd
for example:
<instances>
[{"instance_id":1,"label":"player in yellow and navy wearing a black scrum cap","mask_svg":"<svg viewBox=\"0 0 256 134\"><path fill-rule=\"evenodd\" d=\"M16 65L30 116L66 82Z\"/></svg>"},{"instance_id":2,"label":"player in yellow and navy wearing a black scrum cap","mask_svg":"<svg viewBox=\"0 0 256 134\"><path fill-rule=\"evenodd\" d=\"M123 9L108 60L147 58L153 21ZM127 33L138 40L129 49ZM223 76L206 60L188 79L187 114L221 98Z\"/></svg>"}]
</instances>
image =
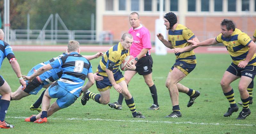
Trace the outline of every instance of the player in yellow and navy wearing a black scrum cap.
<instances>
[{"instance_id":1,"label":"player in yellow and navy wearing a black scrum cap","mask_svg":"<svg viewBox=\"0 0 256 134\"><path fill-rule=\"evenodd\" d=\"M184 48L189 46L187 40L198 41L195 34L186 26L177 23L177 17L173 12L164 15L164 25L169 30L168 41L164 39L161 33L157 34L160 41L164 43L167 48ZM165 117L181 117L179 107L179 92L186 93L190 96L187 107L193 105L195 99L200 95L199 91L183 86L179 82L188 75L196 67L196 56L193 50L184 51L182 53L175 53L176 61L172 66L165 86L169 89L172 100L173 112Z\"/></svg>"}]
</instances>

